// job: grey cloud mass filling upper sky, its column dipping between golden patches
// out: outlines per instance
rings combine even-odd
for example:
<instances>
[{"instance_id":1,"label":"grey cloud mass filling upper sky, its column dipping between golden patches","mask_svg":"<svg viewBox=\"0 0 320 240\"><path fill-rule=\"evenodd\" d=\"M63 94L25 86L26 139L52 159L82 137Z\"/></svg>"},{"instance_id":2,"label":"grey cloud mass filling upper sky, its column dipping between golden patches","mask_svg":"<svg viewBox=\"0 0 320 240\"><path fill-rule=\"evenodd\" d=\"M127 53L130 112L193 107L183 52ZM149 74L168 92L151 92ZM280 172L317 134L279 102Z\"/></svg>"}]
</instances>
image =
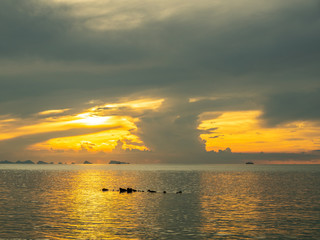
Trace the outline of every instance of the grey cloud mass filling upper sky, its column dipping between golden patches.
<instances>
[{"instance_id":1,"label":"grey cloud mass filling upper sky, its column dipping between golden patches","mask_svg":"<svg viewBox=\"0 0 320 240\"><path fill-rule=\"evenodd\" d=\"M268 126L319 121L318 1L172 1L134 14L128 4L1 1L0 115L165 98L138 126L159 154L202 154L203 112L261 109Z\"/></svg>"}]
</instances>

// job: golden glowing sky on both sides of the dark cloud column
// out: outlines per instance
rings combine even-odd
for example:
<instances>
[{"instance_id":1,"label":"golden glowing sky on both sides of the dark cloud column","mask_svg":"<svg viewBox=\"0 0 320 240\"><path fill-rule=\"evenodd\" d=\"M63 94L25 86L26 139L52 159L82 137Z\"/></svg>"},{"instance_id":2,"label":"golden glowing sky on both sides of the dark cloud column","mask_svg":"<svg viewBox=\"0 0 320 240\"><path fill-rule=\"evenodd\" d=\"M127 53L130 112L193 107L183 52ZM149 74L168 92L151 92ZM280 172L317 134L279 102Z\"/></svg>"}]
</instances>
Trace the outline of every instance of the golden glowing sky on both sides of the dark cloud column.
<instances>
[{"instance_id":1,"label":"golden glowing sky on both sides of the dark cloud column","mask_svg":"<svg viewBox=\"0 0 320 240\"><path fill-rule=\"evenodd\" d=\"M157 111L163 101L164 99L140 99L107 103L72 115L67 114L70 109L45 110L37 114L42 118L34 116L34 119L3 116L0 121L0 140L46 133L48 140L29 145L27 149L92 153L150 151L137 135L136 123L140 121L139 114ZM300 121L277 127L264 127L261 114L258 110L200 114L198 129L203 132L200 137L205 140L206 151L218 152L230 148L233 152L300 153L320 147L317 134L320 127L313 122ZM89 133L68 135L68 131L73 129L89 129ZM67 134L50 138L52 132Z\"/></svg>"}]
</instances>

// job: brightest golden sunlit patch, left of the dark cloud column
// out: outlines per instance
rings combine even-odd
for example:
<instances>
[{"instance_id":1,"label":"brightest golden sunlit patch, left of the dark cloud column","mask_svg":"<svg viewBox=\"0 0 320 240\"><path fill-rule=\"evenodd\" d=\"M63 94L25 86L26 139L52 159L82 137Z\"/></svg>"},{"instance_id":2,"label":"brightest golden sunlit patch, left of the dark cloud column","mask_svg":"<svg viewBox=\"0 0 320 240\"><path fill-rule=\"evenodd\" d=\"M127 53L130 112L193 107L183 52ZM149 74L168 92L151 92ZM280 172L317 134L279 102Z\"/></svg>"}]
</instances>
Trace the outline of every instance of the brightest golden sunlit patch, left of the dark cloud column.
<instances>
[{"instance_id":1,"label":"brightest golden sunlit patch, left of the dark cloud column","mask_svg":"<svg viewBox=\"0 0 320 240\"><path fill-rule=\"evenodd\" d=\"M163 99L139 99L98 105L74 115L56 116L70 109L46 110L35 116L45 118L5 119L0 121L0 140L48 134L48 140L28 146L31 151L147 151L135 134L139 114L155 111ZM10 120L10 121L9 121ZM51 133L61 137L50 138ZM59 135L59 134L58 134ZM116 149L116 150L115 150Z\"/></svg>"}]
</instances>

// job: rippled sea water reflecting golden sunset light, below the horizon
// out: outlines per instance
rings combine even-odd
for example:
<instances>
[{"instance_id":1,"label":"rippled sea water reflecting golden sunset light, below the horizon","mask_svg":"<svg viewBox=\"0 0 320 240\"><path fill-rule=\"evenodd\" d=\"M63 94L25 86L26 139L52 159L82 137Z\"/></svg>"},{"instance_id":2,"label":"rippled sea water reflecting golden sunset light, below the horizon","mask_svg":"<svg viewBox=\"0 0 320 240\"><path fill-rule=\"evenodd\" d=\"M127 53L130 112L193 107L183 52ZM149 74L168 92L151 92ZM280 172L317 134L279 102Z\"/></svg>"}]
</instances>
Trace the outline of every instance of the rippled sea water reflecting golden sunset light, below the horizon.
<instances>
[{"instance_id":1,"label":"rippled sea water reflecting golden sunset light, below the horizon","mask_svg":"<svg viewBox=\"0 0 320 240\"><path fill-rule=\"evenodd\" d=\"M320 239L319 183L320 165L1 164L0 239Z\"/></svg>"}]
</instances>

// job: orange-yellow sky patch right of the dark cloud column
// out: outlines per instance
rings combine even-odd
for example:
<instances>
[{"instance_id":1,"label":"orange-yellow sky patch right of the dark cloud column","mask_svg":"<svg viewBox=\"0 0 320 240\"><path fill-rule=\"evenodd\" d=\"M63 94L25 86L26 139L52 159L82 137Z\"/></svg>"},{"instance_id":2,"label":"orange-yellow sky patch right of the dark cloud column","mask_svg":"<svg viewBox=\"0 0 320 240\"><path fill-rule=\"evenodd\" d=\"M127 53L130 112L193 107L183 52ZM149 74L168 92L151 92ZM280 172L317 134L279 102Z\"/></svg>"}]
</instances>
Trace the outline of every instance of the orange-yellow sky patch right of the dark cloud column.
<instances>
[{"instance_id":1,"label":"orange-yellow sky patch right of the dark cloud column","mask_svg":"<svg viewBox=\"0 0 320 240\"><path fill-rule=\"evenodd\" d=\"M204 113L218 117L201 121L200 130L207 151L231 148L233 152L308 152L320 148L320 126L300 121L277 127L264 127L261 111Z\"/></svg>"}]
</instances>

